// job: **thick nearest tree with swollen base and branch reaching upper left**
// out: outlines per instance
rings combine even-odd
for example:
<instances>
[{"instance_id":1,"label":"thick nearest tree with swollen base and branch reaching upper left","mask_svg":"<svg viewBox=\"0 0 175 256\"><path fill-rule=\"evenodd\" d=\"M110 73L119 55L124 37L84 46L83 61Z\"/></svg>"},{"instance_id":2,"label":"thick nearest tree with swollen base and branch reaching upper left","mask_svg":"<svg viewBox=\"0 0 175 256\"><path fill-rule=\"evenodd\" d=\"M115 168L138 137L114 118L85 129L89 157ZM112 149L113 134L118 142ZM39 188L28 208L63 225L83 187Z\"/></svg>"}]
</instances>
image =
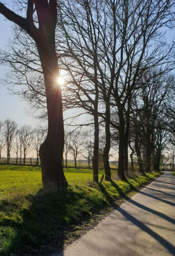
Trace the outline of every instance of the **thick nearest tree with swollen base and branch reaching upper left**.
<instances>
[{"instance_id":1,"label":"thick nearest tree with swollen base and branch reaching upper left","mask_svg":"<svg viewBox=\"0 0 175 256\"><path fill-rule=\"evenodd\" d=\"M62 116L61 89L56 86L59 74L55 50L55 29L57 25L56 0L28 0L20 2L21 16L0 3L0 13L25 30L38 50L45 81L48 135L40 147L42 182L44 188L67 186L62 155L64 146L64 128ZM23 16L25 15L25 16Z\"/></svg>"}]
</instances>

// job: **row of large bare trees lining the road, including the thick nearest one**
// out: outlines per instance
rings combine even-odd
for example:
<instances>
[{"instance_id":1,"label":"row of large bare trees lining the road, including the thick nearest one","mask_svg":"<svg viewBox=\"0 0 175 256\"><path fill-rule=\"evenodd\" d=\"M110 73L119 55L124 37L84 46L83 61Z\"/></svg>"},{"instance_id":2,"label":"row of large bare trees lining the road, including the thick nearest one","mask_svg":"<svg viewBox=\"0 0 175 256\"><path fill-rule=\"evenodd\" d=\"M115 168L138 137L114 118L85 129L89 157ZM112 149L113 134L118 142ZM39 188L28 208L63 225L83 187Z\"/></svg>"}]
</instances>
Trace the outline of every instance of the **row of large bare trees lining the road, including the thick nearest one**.
<instances>
[{"instance_id":1,"label":"row of large bare trees lining the road, including the thick nearest one","mask_svg":"<svg viewBox=\"0 0 175 256\"><path fill-rule=\"evenodd\" d=\"M151 161L159 169L163 148L174 142L174 42L166 41L173 7L173 0L28 0L18 6L21 15L26 10L21 17L0 4L0 12L20 27L1 53L11 67L10 83L20 84L17 93L48 117L40 147L44 187L67 185L62 100L64 110L80 108L93 118L86 125L94 127L95 182L101 130L105 180L111 180L112 144L119 145L120 179L128 172L128 148L137 154L140 173L150 171ZM60 70L62 96L56 86Z\"/></svg>"}]
</instances>

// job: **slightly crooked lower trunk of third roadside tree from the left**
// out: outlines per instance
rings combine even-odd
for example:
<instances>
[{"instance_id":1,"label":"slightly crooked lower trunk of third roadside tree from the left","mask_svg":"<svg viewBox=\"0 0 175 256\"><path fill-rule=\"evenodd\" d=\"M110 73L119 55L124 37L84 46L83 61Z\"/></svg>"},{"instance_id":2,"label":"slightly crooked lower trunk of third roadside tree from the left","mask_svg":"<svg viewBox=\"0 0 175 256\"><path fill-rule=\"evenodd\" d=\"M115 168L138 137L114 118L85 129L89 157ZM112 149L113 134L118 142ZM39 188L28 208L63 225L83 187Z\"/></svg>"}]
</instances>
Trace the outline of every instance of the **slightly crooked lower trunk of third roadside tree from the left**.
<instances>
[{"instance_id":1,"label":"slightly crooked lower trunk of third roadside tree from the left","mask_svg":"<svg viewBox=\"0 0 175 256\"><path fill-rule=\"evenodd\" d=\"M109 154L111 149L111 132L110 132L110 102L106 102L105 111L105 147L103 151L103 163L104 163L104 173L105 180L111 180L111 168L109 162Z\"/></svg>"}]
</instances>

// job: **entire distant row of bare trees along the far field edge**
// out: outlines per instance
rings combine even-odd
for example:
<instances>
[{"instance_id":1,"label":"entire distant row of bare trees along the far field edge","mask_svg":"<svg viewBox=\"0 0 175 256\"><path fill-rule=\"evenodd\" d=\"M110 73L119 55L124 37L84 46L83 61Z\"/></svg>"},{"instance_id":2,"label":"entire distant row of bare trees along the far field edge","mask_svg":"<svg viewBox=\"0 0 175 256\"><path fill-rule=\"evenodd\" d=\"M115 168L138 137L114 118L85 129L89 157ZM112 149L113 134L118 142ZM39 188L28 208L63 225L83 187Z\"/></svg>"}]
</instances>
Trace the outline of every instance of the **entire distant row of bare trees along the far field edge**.
<instances>
[{"instance_id":1,"label":"entire distant row of bare trees along the far field edge","mask_svg":"<svg viewBox=\"0 0 175 256\"><path fill-rule=\"evenodd\" d=\"M15 121L6 119L0 121L0 162L3 150L7 152L7 164L10 163L11 153L16 155L16 164L26 164L26 157L36 152L36 164L39 164L39 148L46 138L47 129L41 127L32 129L30 125L18 127ZM85 139L84 139L85 138ZM87 132L72 131L65 133L64 156L65 166L68 167L69 157L74 158L77 167L77 157L88 160L88 166L92 161L93 141L91 134ZM34 155L34 154L33 154ZM33 157L32 157L33 158ZM32 159L30 158L30 159Z\"/></svg>"}]
</instances>

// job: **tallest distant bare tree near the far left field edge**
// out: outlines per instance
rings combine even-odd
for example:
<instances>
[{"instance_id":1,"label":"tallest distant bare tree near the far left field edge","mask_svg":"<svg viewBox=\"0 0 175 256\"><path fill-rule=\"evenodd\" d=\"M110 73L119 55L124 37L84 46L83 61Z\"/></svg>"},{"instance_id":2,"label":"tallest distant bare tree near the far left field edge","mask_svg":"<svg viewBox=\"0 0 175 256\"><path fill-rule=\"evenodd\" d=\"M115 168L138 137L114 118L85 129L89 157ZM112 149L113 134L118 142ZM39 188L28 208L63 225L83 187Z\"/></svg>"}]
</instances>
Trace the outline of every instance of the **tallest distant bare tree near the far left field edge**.
<instances>
[{"instance_id":1,"label":"tallest distant bare tree near the far left field edge","mask_svg":"<svg viewBox=\"0 0 175 256\"><path fill-rule=\"evenodd\" d=\"M16 128L17 128L17 124L14 121L10 119L5 120L3 129L4 129L4 137L6 140L6 147L7 147L7 164L9 164L10 162L10 152L12 149L13 139L16 133Z\"/></svg>"}]
</instances>

